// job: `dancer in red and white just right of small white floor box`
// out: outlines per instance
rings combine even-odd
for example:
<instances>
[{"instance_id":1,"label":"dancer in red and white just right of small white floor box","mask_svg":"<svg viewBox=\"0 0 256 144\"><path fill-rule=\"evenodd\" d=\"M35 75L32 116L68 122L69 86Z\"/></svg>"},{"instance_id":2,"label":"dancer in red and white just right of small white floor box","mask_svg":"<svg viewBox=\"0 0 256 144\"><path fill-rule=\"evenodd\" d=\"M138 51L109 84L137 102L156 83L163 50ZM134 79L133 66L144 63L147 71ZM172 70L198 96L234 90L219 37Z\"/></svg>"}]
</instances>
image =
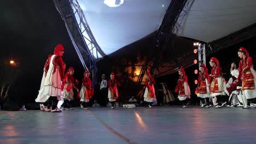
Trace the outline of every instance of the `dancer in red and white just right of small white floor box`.
<instances>
[{"instance_id":1,"label":"dancer in red and white just right of small white floor box","mask_svg":"<svg viewBox=\"0 0 256 144\"><path fill-rule=\"evenodd\" d=\"M154 88L155 80L150 75L150 73L147 73L145 77L146 77L146 89L144 92L144 101L148 103L147 105L149 106L149 108L152 108L152 103L156 101L155 88Z\"/></svg>"}]
</instances>

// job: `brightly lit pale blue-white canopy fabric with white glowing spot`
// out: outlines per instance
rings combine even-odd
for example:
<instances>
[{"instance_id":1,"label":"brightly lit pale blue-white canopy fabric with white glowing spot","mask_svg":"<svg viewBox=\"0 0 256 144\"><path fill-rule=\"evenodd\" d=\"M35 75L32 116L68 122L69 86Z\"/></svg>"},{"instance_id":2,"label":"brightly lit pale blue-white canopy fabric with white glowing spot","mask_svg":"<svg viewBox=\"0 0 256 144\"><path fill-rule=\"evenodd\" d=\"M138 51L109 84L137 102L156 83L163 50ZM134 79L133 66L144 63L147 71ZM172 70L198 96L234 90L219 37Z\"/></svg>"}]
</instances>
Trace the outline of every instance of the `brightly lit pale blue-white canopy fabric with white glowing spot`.
<instances>
[{"instance_id":1,"label":"brightly lit pale blue-white canopy fabric with white glowing spot","mask_svg":"<svg viewBox=\"0 0 256 144\"><path fill-rule=\"evenodd\" d=\"M171 2L171 0L77 1L92 34L106 55L156 31ZM77 14L75 16L79 19ZM86 39L85 41L88 43Z\"/></svg>"}]
</instances>

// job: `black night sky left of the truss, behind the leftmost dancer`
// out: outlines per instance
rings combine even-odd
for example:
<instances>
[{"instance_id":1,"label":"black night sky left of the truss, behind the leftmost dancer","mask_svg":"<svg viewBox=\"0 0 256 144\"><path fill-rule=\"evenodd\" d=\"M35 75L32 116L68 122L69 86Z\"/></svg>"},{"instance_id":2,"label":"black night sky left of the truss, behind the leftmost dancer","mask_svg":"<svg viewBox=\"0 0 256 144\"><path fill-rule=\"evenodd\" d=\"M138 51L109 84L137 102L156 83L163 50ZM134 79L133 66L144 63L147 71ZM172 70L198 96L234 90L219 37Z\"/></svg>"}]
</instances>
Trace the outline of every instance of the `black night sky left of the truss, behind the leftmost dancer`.
<instances>
[{"instance_id":1,"label":"black night sky left of the truss, behind the leftmost dancer","mask_svg":"<svg viewBox=\"0 0 256 144\"><path fill-rule=\"evenodd\" d=\"M74 67L74 77L83 77L83 66L53 1L1 1L0 9L0 57L9 61L13 49L13 59L21 69L10 95L26 97L28 101L37 97L44 63L57 44L65 47L63 61L67 68Z\"/></svg>"}]
</instances>

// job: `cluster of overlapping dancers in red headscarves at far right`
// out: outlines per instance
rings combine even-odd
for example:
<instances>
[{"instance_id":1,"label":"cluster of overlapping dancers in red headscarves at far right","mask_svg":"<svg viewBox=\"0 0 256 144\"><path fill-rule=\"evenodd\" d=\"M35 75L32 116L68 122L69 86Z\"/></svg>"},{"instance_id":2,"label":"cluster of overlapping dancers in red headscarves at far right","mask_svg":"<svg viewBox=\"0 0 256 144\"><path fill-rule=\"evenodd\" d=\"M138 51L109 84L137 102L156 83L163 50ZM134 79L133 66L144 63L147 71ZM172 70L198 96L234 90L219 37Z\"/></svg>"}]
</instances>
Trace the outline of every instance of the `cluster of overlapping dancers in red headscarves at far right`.
<instances>
[{"instance_id":1,"label":"cluster of overlapping dancers in red headscarves at far right","mask_svg":"<svg viewBox=\"0 0 256 144\"><path fill-rule=\"evenodd\" d=\"M212 67L211 74L208 74L208 69L204 64L200 65L200 75L198 87L196 89L197 97L201 100L201 107L210 107L212 100L215 108L220 108L226 105L242 106L243 109L248 109L256 104L255 78L256 73L253 69L252 57L248 51L241 47L238 50L238 57L241 58L239 67L235 63L231 64L230 77L228 82L225 82L222 75L217 58L210 59Z\"/></svg>"}]
</instances>

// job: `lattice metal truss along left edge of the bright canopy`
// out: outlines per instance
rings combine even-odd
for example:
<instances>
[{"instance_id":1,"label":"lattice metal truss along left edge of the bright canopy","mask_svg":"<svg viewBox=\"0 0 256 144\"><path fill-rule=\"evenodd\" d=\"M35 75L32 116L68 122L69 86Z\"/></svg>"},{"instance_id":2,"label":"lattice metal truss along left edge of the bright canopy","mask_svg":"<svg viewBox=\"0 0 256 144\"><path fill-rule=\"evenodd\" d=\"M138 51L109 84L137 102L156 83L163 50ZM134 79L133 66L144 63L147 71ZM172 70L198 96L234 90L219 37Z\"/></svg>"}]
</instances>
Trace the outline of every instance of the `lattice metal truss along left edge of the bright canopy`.
<instances>
[{"instance_id":1,"label":"lattice metal truss along left edge of the bright canopy","mask_svg":"<svg viewBox=\"0 0 256 144\"><path fill-rule=\"evenodd\" d=\"M69 37L71 38L72 44L78 54L80 61L82 62L84 69L90 70L90 72L92 73L92 81L94 83L96 81L95 75L97 70L96 57L94 57L94 53L92 51L94 51L93 49L97 49L95 46L96 41L95 39L92 39L89 44L86 44L86 38L83 34L85 34L85 32L88 32L90 28L85 23L84 15L82 15L83 11L80 11L80 9L77 8L80 7L79 4L74 3L73 1L69 3L68 0L53 0L53 2L56 9L59 11L61 18L65 22ZM73 5L73 7L77 8L74 9L77 12L73 11L71 4ZM75 19L75 14L78 14L81 17L79 22ZM82 28L84 28L83 31L81 31ZM92 33L89 33L88 35L90 38L93 38ZM92 48L90 49L89 46L92 44L94 46L92 46ZM104 56L103 54L104 53L102 53L102 56Z\"/></svg>"}]
</instances>

